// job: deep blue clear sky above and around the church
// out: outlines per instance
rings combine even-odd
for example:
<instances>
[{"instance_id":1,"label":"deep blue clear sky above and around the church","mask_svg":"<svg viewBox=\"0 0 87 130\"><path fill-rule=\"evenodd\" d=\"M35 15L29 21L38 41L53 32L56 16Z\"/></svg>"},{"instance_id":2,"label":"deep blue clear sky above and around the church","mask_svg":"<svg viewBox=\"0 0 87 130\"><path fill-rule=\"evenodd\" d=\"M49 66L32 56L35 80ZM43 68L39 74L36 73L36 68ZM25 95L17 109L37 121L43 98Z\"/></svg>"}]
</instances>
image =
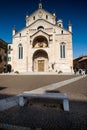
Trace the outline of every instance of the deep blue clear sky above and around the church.
<instances>
[{"instance_id":1,"label":"deep blue clear sky above and around the church","mask_svg":"<svg viewBox=\"0 0 87 130\"><path fill-rule=\"evenodd\" d=\"M38 9L40 0L0 0L0 38L12 42L12 29L25 27L25 16ZM87 55L87 1L86 0L42 0L43 8L56 12L64 28L70 21L73 30L73 57Z\"/></svg>"}]
</instances>

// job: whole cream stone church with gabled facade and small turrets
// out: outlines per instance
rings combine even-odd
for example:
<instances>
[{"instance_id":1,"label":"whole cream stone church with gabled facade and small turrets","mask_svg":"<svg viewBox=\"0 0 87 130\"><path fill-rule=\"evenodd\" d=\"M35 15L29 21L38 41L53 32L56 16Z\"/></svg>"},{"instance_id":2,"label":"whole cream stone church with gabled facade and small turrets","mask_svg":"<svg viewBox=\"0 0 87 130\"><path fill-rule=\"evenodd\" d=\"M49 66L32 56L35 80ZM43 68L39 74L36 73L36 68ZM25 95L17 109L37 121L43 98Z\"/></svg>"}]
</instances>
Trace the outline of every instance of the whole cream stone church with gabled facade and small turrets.
<instances>
[{"instance_id":1,"label":"whole cream stone church with gabled facade and small turrets","mask_svg":"<svg viewBox=\"0 0 87 130\"><path fill-rule=\"evenodd\" d=\"M42 3L26 15L26 27L13 29L8 64L19 72L72 72L72 26L64 29L56 14L44 10ZM11 50L11 51L10 51Z\"/></svg>"}]
</instances>

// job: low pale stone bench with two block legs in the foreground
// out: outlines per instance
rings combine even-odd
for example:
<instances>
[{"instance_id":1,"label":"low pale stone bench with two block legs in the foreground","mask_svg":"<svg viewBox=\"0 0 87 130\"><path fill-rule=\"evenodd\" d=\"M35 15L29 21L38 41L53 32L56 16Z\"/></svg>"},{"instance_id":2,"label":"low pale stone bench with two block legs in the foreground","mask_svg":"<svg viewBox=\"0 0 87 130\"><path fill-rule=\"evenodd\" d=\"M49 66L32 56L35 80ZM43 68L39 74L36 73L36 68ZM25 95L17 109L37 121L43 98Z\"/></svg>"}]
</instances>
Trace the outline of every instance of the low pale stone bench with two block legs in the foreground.
<instances>
[{"instance_id":1,"label":"low pale stone bench with two block legs in the foreground","mask_svg":"<svg viewBox=\"0 0 87 130\"><path fill-rule=\"evenodd\" d=\"M56 100L63 100L63 109L64 111L69 111L69 100L66 93L43 93L43 94L36 94L36 93L29 93L24 92L19 95L19 106L24 106L27 102L27 99L56 99Z\"/></svg>"}]
</instances>

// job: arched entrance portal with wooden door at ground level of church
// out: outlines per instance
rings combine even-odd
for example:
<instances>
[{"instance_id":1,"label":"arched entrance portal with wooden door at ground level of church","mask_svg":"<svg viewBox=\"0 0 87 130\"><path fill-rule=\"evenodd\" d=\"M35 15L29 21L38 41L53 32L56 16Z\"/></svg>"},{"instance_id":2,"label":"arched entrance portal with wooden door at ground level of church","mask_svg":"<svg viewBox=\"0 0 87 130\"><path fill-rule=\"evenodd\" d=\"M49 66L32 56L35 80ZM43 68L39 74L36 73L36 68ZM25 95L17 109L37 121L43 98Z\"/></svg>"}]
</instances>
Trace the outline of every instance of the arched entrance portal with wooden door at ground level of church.
<instances>
[{"instance_id":1,"label":"arched entrance portal with wooden door at ground level of church","mask_svg":"<svg viewBox=\"0 0 87 130\"><path fill-rule=\"evenodd\" d=\"M33 55L33 71L46 72L48 70L48 54L44 50L37 50Z\"/></svg>"}]
</instances>

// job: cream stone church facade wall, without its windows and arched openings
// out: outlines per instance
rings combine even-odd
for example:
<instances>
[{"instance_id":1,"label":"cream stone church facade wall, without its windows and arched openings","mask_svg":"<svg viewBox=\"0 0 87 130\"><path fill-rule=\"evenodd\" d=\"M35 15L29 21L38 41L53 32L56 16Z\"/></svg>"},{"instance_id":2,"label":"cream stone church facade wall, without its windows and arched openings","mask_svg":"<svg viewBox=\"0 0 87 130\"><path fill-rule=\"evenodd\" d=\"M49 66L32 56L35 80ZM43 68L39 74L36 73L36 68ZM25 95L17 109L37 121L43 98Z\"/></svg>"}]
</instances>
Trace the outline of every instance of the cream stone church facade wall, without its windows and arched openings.
<instances>
[{"instance_id":1,"label":"cream stone church facade wall, without its windows and arched openings","mask_svg":"<svg viewBox=\"0 0 87 130\"><path fill-rule=\"evenodd\" d=\"M12 60L10 62L12 64L12 68L14 71L19 72L32 72L33 70L38 71L37 65L39 57L35 59L37 64L36 69L34 69L35 64L33 55L37 50L42 50L48 55L48 59L42 57L42 60L44 59L45 61L44 71L71 72L71 68L73 68L72 34L64 28L58 27L56 24L52 24L54 23L52 18L55 17L50 13L45 12L43 9L42 17L46 19L46 15L48 15L48 22L46 22L47 20L45 21L41 19L41 17L38 16L39 11L40 10L34 12L30 17L26 18L26 21L29 22L27 23L27 27L13 36L13 51L11 52ZM40 26L43 26L43 28L38 29ZM47 47L33 47L33 41L38 36L42 36L48 41ZM62 42L65 43L65 58L60 58L60 43ZM23 47L23 59L18 58L19 44Z\"/></svg>"}]
</instances>

